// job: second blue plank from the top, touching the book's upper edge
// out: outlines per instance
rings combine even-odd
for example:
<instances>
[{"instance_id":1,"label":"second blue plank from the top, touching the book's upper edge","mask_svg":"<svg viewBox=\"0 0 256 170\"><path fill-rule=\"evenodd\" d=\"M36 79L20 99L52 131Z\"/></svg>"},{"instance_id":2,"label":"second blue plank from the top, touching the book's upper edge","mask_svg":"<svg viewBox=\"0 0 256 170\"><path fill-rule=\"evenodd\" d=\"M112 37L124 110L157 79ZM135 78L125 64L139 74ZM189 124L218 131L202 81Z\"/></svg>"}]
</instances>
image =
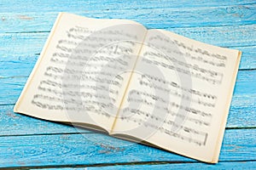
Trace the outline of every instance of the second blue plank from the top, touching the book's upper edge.
<instances>
[{"instance_id":1,"label":"second blue plank from the top, touching the book's upper edge","mask_svg":"<svg viewBox=\"0 0 256 170\"><path fill-rule=\"evenodd\" d=\"M256 5L253 4L212 8L133 8L88 11L75 9L67 11L92 18L136 20L148 28L161 29L255 24L255 10ZM58 12L0 13L0 32L49 31Z\"/></svg>"}]
</instances>

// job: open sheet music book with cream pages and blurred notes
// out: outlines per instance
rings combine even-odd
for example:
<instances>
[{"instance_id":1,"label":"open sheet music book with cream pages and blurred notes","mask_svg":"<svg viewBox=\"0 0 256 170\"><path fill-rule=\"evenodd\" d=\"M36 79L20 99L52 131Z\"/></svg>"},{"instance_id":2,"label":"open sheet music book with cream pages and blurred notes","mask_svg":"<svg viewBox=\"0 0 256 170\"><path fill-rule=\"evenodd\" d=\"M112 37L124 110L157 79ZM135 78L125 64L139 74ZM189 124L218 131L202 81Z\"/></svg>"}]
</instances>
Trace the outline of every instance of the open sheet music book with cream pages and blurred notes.
<instances>
[{"instance_id":1,"label":"open sheet music book with cream pages and blurred notes","mask_svg":"<svg viewBox=\"0 0 256 170\"><path fill-rule=\"evenodd\" d=\"M215 163L240 59L135 21L61 13L15 112Z\"/></svg>"}]
</instances>

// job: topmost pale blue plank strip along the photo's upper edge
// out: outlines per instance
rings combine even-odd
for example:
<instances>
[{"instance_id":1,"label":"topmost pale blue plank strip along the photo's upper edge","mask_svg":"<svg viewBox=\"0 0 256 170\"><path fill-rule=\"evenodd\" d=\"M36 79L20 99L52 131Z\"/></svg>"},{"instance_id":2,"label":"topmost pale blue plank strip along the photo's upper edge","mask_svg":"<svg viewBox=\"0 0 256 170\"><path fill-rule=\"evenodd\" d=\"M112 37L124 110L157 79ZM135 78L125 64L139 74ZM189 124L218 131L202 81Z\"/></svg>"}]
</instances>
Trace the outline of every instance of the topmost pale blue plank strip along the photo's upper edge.
<instances>
[{"instance_id":1,"label":"topmost pale blue plank strip along the photo's upper edge","mask_svg":"<svg viewBox=\"0 0 256 170\"><path fill-rule=\"evenodd\" d=\"M122 0L102 0L98 1L83 1L83 0L52 0L50 2L40 0L2 0L0 3L0 12L22 13L22 12L49 12L49 11L90 11L95 9L111 10L111 9L131 9L131 8L195 8L195 7L218 7L227 5L246 5L253 4L251 0L232 0L232 1L218 1L218 0L148 0L148 1L122 1Z\"/></svg>"}]
</instances>

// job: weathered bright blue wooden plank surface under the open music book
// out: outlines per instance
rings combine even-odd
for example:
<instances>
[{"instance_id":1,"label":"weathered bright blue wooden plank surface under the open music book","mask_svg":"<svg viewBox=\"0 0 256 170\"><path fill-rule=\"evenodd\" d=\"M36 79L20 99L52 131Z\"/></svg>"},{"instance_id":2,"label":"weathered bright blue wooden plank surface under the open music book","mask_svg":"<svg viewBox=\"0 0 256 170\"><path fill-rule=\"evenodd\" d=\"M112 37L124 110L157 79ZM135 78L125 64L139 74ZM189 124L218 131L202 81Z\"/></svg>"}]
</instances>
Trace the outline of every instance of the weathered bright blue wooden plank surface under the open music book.
<instances>
[{"instance_id":1,"label":"weathered bright blue wooden plank surface under the open music book","mask_svg":"<svg viewBox=\"0 0 256 170\"><path fill-rule=\"evenodd\" d=\"M136 20L243 52L218 164L21 116L13 107L59 12ZM256 169L256 2L1 0L0 167Z\"/></svg>"}]
</instances>

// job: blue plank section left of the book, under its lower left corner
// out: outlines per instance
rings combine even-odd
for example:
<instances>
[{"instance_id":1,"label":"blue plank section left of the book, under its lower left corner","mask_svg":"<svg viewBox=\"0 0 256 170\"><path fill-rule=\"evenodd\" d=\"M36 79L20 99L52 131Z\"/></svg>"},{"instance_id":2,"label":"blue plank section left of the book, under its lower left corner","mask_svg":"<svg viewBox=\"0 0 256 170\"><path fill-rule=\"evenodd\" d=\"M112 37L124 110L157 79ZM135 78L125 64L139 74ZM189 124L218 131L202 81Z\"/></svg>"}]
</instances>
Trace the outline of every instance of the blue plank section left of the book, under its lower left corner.
<instances>
[{"instance_id":1,"label":"blue plank section left of the book, under its lower left corner","mask_svg":"<svg viewBox=\"0 0 256 170\"><path fill-rule=\"evenodd\" d=\"M51 133L94 133L82 128L48 122L13 112L14 105L0 105L0 136ZM1 156L0 156L1 157Z\"/></svg>"}]
</instances>

